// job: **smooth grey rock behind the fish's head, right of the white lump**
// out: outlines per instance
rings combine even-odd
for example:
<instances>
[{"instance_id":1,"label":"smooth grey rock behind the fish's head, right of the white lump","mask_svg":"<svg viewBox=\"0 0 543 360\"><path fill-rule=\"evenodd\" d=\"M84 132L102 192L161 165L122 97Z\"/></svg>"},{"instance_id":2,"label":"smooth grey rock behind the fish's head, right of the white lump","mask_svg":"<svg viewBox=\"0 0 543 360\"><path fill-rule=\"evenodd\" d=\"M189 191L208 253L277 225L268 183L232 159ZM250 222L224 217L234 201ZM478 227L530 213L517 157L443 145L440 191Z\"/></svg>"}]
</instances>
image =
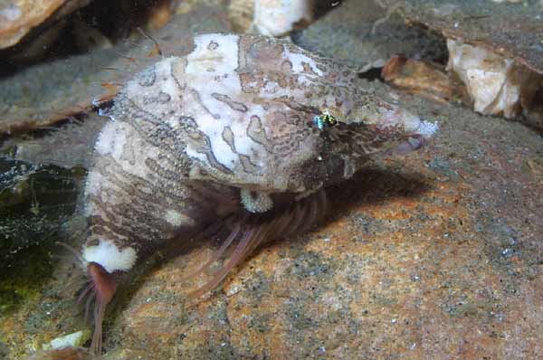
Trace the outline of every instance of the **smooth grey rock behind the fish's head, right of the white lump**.
<instances>
[{"instance_id":1,"label":"smooth grey rock behind the fish's head, right of the white lump","mask_svg":"<svg viewBox=\"0 0 543 360\"><path fill-rule=\"evenodd\" d=\"M384 19L386 11L374 0L347 0L292 40L360 72L383 67L395 54L426 60L446 55L443 39L405 26L398 16Z\"/></svg>"}]
</instances>

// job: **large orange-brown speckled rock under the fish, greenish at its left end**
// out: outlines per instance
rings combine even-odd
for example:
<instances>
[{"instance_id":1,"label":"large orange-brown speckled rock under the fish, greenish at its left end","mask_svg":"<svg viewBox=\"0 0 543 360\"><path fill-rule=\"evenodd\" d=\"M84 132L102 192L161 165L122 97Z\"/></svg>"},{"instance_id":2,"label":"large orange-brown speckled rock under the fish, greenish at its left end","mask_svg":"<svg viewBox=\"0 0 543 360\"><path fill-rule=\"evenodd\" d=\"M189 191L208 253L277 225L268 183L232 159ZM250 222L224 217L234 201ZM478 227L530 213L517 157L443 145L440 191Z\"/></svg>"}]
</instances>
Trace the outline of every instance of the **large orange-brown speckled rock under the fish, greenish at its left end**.
<instances>
[{"instance_id":1,"label":"large orange-brown speckled rock under the fish, greenish at its left end","mask_svg":"<svg viewBox=\"0 0 543 360\"><path fill-rule=\"evenodd\" d=\"M110 308L107 360L543 355L541 134L379 81L359 86L438 121L440 133L329 189L326 221L259 249L205 298L187 297L202 279L184 279L205 243L157 256ZM80 220L65 227L73 246ZM38 255L0 279L0 357L86 327L66 261Z\"/></svg>"}]
</instances>

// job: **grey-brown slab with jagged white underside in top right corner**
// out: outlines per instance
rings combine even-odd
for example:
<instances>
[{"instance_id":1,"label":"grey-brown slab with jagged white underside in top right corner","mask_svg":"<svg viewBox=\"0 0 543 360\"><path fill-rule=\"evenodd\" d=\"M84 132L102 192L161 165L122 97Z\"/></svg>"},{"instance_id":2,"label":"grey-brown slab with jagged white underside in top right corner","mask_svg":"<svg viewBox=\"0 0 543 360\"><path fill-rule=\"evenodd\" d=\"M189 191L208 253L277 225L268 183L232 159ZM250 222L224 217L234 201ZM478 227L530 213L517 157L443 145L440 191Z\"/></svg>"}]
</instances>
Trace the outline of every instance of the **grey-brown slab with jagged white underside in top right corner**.
<instances>
[{"instance_id":1,"label":"grey-brown slab with jagged white underside in top right corner","mask_svg":"<svg viewBox=\"0 0 543 360\"><path fill-rule=\"evenodd\" d=\"M543 128L540 4L486 0L378 3L407 23L423 25L447 38L448 69L464 82L476 111Z\"/></svg>"}]
</instances>

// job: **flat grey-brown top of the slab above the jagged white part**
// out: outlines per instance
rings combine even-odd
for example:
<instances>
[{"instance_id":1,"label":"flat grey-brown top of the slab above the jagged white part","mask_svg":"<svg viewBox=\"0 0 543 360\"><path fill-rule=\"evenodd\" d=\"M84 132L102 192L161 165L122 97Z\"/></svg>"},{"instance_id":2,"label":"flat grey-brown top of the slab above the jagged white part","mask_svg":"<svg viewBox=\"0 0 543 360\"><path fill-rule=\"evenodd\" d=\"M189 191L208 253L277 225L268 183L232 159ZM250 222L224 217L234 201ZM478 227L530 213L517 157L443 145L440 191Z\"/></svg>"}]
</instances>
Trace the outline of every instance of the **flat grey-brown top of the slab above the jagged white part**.
<instances>
[{"instance_id":1,"label":"flat grey-brown top of the slab above the jagged white part","mask_svg":"<svg viewBox=\"0 0 543 360\"><path fill-rule=\"evenodd\" d=\"M504 55L543 74L543 5L536 1L496 4L488 0L378 0L408 22Z\"/></svg>"}]
</instances>

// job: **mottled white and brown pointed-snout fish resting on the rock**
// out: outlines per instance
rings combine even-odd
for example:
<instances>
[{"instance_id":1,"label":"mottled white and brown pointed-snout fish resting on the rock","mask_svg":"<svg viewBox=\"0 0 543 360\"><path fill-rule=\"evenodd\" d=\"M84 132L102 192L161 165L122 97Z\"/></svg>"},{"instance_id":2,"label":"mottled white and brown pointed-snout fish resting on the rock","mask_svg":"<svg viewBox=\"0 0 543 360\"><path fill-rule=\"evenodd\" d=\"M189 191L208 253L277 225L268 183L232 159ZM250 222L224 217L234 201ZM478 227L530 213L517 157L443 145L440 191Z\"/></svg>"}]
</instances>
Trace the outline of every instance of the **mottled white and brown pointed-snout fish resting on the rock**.
<instances>
[{"instance_id":1,"label":"mottled white and brown pointed-snout fish resting on the rock","mask_svg":"<svg viewBox=\"0 0 543 360\"><path fill-rule=\"evenodd\" d=\"M85 188L81 298L95 301L93 352L117 283L149 255L206 229L228 259L213 289L260 243L303 232L324 188L378 153L413 150L436 130L357 87L357 74L292 43L195 37L193 52L138 73L106 112Z\"/></svg>"}]
</instances>

